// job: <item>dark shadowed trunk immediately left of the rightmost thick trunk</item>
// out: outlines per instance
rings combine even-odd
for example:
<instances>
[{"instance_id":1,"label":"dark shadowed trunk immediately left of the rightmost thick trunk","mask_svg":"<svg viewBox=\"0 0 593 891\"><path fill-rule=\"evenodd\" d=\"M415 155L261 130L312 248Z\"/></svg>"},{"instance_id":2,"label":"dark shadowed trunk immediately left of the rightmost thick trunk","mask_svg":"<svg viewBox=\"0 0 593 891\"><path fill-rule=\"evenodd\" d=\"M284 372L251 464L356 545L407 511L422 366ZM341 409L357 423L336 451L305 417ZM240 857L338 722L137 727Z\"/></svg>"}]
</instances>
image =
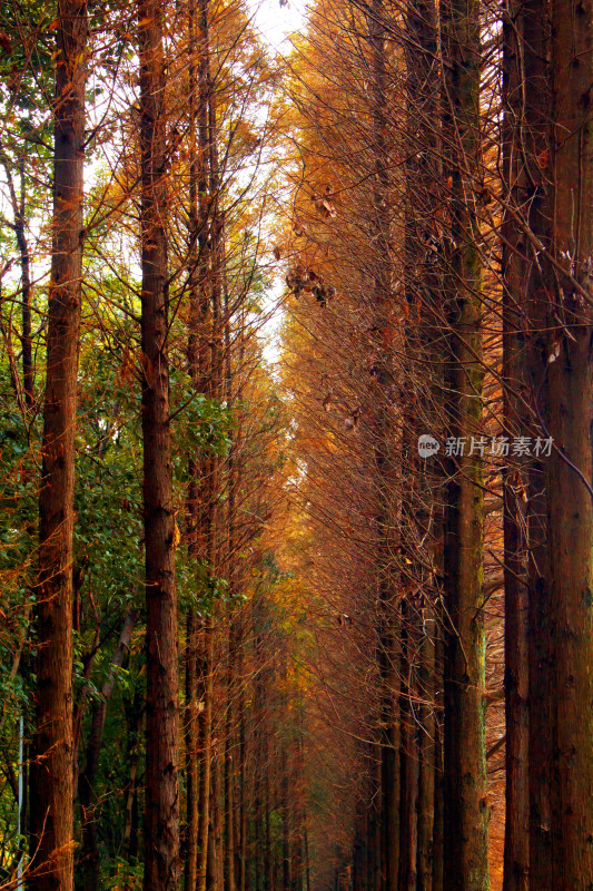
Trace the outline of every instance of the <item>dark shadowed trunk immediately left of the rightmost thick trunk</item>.
<instances>
[{"instance_id":1,"label":"dark shadowed trunk immediately left of the rightmost thick trunk","mask_svg":"<svg viewBox=\"0 0 593 891\"><path fill-rule=\"evenodd\" d=\"M516 109L513 147L524 184L521 193L523 216L521 228L513 233L511 245L524 257L521 282L521 314L527 332L526 385L535 419L536 435L547 435L547 302L550 268L540 245L550 243L550 9L547 0L527 0L520 4L521 14L511 7L513 35L506 49L510 65L518 67L520 100L507 106ZM511 27L511 26L508 26ZM513 51L518 55L514 61ZM511 88L511 72L507 74ZM511 174L511 172L510 172ZM510 196L512 197L512 196ZM517 195L517 202L520 196ZM514 203L513 203L514 206ZM518 226L517 226L518 227ZM535 238L534 243L532 238ZM514 239L514 241L513 241ZM515 264L520 261L515 258ZM515 271L515 275L516 275ZM556 607L551 595L550 552L546 531L547 495L546 459L532 457L527 488L527 584L528 584L528 884L537 891L556 891L553 874L551 802L554 741L553 628ZM521 609L521 606L520 606ZM517 619L521 619L517 615ZM513 742L511 746L513 748ZM518 816L517 816L518 823ZM520 860L524 860L521 854ZM511 865L511 864L510 864ZM520 863L520 870L524 865Z\"/></svg>"}]
</instances>

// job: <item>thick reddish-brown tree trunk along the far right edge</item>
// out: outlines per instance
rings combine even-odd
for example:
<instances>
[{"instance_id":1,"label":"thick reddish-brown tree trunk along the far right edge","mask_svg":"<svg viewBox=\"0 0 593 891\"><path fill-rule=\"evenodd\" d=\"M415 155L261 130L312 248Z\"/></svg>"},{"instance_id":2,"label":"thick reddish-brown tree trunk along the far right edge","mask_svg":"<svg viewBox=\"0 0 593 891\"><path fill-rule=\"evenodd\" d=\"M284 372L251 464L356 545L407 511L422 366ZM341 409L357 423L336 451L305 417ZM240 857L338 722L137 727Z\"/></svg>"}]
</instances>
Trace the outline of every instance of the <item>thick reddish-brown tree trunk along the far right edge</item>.
<instances>
[{"instance_id":1,"label":"thick reddish-brown tree trunk along the far right edge","mask_svg":"<svg viewBox=\"0 0 593 891\"><path fill-rule=\"evenodd\" d=\"M593 8L552 3L548 544L556 891L593 887ZM555 358L555 361L552 359Z\"/></svg>"}]
</instances>

